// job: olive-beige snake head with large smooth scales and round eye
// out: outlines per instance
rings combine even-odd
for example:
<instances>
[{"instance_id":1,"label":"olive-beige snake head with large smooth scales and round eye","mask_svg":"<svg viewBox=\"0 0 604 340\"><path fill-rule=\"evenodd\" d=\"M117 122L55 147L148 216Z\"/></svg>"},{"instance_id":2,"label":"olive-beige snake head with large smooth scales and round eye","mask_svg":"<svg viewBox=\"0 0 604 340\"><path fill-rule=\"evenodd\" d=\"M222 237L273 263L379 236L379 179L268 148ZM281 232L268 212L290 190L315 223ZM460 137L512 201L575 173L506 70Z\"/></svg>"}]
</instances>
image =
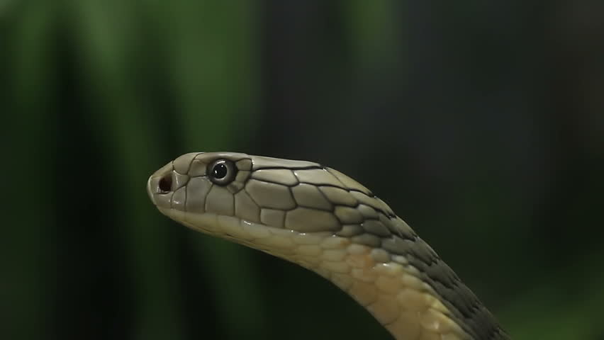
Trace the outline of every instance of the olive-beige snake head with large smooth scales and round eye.
<instances>
[{"instance_id":1,"label":"olive-beige snake head with large smooth scales and round eye","mask_svg":"<svg viewBox=\"0 0 604 340\"><path fill-rule=\"evenodd\" d=\"M334 169L231 152L184 154L150 176L147 193L160 212L187 227L264 251L273 247L259 243L284 232L388 235L380 219L394 216L367 188ZM379 244L379 237L362 238Z\"/></svg>"}]
</instances>

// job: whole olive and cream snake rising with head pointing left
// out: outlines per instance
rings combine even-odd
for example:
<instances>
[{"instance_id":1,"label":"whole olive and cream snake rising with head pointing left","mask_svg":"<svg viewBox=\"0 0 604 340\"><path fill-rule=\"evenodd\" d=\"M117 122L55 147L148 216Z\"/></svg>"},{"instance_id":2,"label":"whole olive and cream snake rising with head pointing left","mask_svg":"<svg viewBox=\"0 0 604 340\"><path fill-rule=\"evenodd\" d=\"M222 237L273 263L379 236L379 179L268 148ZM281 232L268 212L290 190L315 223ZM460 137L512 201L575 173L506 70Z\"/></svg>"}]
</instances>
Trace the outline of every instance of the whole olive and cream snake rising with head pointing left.
<instances>
[{"instance_id":1,"label":"whole olive and cream snake rising with head pointing left","mask_svg":"<svg viewBox=\"0 0 604 340\"><path fill-rule=\"evenodd\" d=\"M155 171L147 193L181 225L330 280L394 339L510 339L430 245L340 171L238 152L192 152Z\"/></svg>"}]
</instances>

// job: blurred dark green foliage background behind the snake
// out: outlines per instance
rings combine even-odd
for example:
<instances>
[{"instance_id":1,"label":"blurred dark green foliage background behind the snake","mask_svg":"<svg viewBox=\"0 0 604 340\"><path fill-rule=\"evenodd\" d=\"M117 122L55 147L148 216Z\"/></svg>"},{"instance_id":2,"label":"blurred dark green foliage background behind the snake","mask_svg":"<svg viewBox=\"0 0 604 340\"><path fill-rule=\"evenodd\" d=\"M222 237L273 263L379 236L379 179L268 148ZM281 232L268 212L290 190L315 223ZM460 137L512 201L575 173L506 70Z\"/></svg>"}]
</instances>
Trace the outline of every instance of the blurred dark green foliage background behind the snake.
<instances>
[{"instance_id":1,"label":"blurred dark green foliage background behind the snake","mask_svg":"<svg viewBox=\"0 0 604 340\"><path fill-rule=\"evenodd\" d=\"M0 86L2 339L391 339L160 215L202 150L339 169L515 339L604 339L603 1L1 0Z\"/></svg>"}]
</instances>

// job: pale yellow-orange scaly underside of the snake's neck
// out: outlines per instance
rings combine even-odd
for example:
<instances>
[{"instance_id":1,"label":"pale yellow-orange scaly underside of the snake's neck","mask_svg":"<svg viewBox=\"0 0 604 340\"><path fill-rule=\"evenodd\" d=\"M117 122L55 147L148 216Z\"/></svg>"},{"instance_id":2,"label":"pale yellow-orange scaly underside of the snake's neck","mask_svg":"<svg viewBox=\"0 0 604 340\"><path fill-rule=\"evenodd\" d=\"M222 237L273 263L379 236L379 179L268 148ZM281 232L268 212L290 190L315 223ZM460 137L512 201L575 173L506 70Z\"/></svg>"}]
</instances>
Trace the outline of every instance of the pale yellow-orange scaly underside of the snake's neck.
<instances>
[{"instance_id":1,"label":"pale yellow-orange scaly underside of the snake's neck","mask_svg":"<svg viewBox=\"0 0 604 340\"><path fill-rule=\"evenodd\" d=\"M313 240L309 234L272 232L273 237L266 238L266 248L261 250L327 278L365 307L397 340L472 339L404 256L391 261L384 249L355 244L347 237L318 233ZM304 244L298 244L301 239Z\"/></svg>"}]
</instances>

